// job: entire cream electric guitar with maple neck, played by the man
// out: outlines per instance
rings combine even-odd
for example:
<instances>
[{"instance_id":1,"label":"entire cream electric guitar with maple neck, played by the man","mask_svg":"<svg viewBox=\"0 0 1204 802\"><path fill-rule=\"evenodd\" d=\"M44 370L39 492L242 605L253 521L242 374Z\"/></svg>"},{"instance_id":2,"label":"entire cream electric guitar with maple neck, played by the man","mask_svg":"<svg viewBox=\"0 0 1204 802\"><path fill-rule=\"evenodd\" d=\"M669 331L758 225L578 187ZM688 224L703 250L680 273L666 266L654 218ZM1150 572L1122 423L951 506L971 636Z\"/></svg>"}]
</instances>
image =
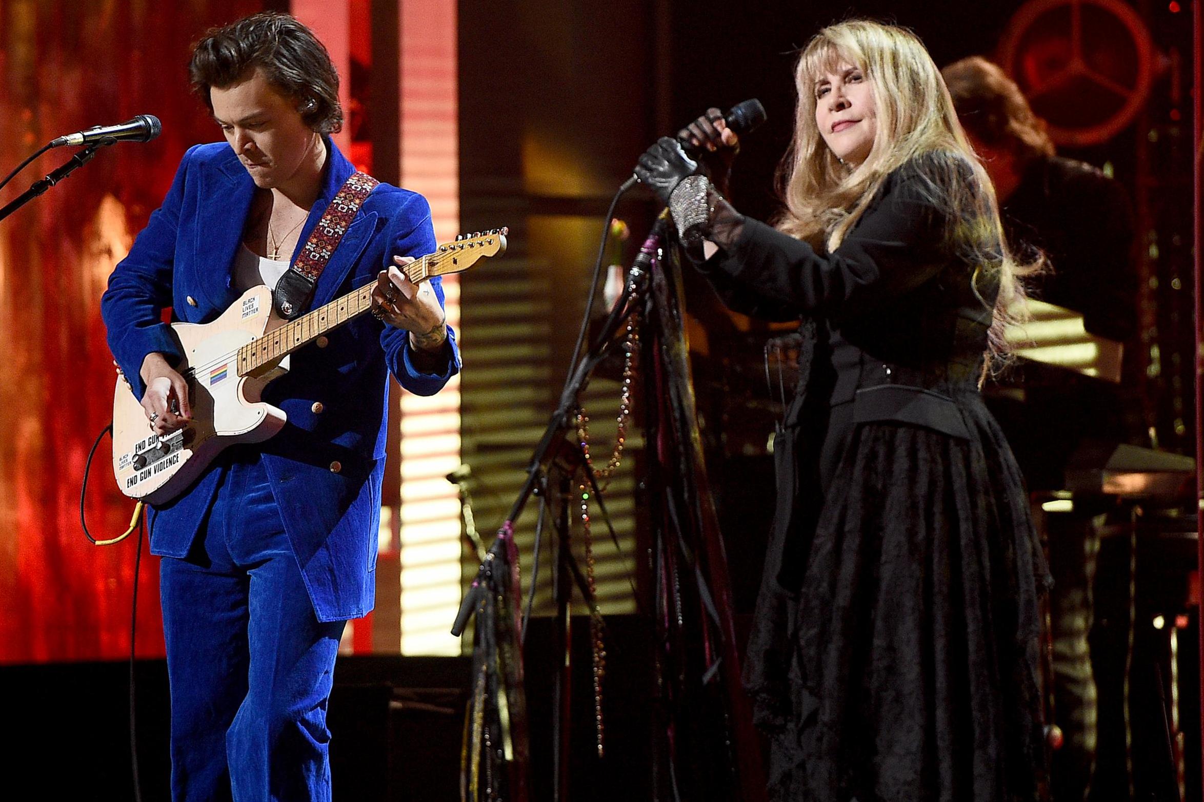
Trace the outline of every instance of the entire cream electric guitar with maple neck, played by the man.
<instances>
[{"instance_id":1,"label":"entire cream electric guitar with maple neck, played by the man","mask_svg":"<svg viewBox=\"0 0 1204 802\"><path fill-rule=\"evenodd\" d=\"M506 228L461 236L401 267L415 284L459 273L506 253ZM193 418L166 436L148 430L146 411L118 372L113 390L113 475L125 495L161 504L178 495L223 448L261 442L284 426L284 410L260 400L289 369L289 355L372 308L365 285L291 321L272 308L266 285L247 290L209 323L172 323L184 355Z\"/></svg>"}]
</instances>

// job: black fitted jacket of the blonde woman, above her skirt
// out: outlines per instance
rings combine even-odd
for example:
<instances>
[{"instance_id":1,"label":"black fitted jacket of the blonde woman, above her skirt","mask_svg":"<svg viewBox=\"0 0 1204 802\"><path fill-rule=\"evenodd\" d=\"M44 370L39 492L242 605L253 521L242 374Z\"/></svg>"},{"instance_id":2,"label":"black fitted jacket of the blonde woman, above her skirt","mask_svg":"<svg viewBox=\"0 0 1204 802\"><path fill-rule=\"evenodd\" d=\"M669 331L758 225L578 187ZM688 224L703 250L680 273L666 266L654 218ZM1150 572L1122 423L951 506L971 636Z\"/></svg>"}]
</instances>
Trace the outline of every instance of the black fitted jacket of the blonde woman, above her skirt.
<instances>
[{"instance_id":1,"label":"black fitted jacket of the blonde woman, above her skirt","mask_svg":"<svg viewBox=\"0 0 1204 802\"><path fill-rule=\"evenodd\" d=\"M802 328L786 427L804 409L822 415L825 405L854 402L854 422L967 436L956 397L976 396L997 285L949 245L951 226L963 221L933 201L948 180L973 173L956 156L927 154L887 176L832 253L748 219L730 250L700 266L737 311L814 321Z\"/></svg>"}]
</instances>

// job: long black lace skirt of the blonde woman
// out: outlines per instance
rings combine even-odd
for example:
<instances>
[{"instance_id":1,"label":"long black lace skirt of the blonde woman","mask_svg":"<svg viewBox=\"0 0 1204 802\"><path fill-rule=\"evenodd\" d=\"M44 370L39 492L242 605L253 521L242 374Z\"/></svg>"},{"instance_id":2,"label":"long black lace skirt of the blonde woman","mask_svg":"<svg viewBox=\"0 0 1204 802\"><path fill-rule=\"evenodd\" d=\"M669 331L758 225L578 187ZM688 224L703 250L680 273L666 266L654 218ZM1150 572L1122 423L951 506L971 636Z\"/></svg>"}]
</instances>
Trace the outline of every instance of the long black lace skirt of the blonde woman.
<instances>
[{"instance_id":1,"label":"long black lace skirt of the blonde woman","mask_svg":"<svg viewBox=\"0 0 1204 802\"><path fill-rule=\"evenodd\" d=\"M778 560L801 565L766 571L745 664L773 800L1038 798L1047 574L998 424L957 403L969 439L861 423L830 433L827 487L793 489Z\"/></svg>"}]
</instances>

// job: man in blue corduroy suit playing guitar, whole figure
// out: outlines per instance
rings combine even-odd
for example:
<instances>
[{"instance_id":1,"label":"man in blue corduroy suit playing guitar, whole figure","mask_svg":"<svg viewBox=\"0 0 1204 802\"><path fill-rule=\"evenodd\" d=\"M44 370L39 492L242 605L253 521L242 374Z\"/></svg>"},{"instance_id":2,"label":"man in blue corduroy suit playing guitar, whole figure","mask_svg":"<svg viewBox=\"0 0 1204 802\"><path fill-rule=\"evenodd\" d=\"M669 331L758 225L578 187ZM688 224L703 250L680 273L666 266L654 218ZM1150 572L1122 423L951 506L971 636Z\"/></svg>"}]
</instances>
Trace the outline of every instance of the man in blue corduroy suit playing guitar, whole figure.
<instances>
[{"instance_id":1,"label":"man in blue corduroy suit playing guitar, whole figure","mask_svg":"<svg viewBox=\"0 0 1204 802\"><path fill-rule=\"evenodd\" d=\"M161 310L212 321L275 286L354 168L325 136L338 76L313 34L255 14L196 46L193 85L228 144L191 148L101 302L149 427L188 424ZM376 280L362 316L299 350L264 400L283 430L230 448L149 516L171 679L175 800L327 800L325 726L348 618L373 605L386 378L437 392L460 369L438 279L399 269L435 250L430 207L380 184L347 226L312 307Z\"/></svg>"}]
</instances>

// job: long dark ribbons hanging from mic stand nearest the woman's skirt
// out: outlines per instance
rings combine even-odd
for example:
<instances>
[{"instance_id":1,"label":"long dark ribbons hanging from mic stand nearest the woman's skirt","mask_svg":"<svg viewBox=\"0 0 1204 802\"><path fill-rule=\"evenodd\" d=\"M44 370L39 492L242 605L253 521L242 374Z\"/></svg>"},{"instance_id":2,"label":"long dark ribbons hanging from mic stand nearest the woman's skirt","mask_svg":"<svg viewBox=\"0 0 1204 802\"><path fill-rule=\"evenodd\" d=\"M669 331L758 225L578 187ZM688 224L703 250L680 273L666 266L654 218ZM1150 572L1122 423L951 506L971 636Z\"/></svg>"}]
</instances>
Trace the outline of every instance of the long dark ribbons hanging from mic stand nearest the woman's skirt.
<instances>
[{"instance_id":1,"label":"long dark ribbons hanging from mic stand nearest the woman's skirt","mask_svg":"<svg viewBox=\"0 0 1204 802\"><path fill-rule=\"evenodd\" d=\"M760 739L740 685L727 557L698 422L680 248L674 243L666 251L651 275L641 337L659 604L654 798L765 802Z\"/></svg>"}]
</instances>

